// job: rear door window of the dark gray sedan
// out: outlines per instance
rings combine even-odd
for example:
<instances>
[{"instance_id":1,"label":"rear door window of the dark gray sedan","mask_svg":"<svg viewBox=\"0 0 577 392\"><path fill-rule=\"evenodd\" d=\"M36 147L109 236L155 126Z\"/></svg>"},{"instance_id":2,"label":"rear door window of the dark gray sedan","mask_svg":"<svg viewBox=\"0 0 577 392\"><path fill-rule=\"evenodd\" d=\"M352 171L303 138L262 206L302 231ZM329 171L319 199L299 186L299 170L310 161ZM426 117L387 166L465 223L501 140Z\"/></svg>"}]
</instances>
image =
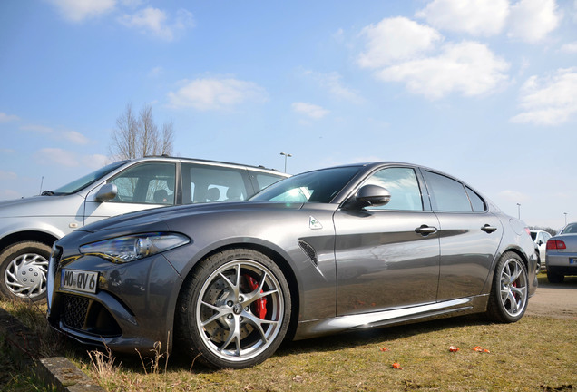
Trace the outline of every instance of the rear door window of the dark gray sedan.
<instances>
[{"instance_id":1,"label":"rear door window of the dark gray sedan","mask_svg":"<svg viewBox=\"0 0 577 392\"><path fill-rule=\"evenodd\" d=\"M433 210L473 211L465 186L461 182L431 171L425 171L425 181L433 199Z\"/></svg>"}]
</instances>

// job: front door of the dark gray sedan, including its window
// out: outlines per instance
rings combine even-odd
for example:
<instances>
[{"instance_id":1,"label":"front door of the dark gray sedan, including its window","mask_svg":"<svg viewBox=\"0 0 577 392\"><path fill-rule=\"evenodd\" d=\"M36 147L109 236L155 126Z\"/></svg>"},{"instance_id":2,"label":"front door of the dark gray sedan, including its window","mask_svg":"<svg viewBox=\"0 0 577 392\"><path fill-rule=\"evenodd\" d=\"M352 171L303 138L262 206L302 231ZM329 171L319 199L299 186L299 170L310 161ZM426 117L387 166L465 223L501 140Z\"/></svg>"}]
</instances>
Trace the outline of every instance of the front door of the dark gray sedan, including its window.
<instances>
[{"instance_id":1,"label":"front door of the dark gray sedan, including its window","mask_svg":"<svg viewBox=\"0 0 577 392\"><path fill-rule=\"evenodd\" d=\"M335 213L337 315L435 302L439 223L417 171L387 167L366 184L386 188L391 201Z\"/></svg>"}]
</instances>

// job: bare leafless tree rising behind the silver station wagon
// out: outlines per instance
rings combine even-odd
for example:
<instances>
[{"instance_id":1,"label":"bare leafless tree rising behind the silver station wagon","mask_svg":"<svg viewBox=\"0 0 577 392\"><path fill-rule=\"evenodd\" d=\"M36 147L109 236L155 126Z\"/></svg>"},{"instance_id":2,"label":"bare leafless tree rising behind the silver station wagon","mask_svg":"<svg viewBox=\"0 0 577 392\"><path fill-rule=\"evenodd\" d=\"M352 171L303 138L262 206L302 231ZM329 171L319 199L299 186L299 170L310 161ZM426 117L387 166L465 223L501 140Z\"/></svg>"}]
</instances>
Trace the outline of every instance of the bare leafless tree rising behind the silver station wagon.
<instances>
[{"instance_id":1,"label":"bare leafless tree rising behind the silver station wagon","mask_svg":"<svg viewBox=\"0 0 577 392\"><path fill-rule=\"evenodd\" d=\"M132 103L128 103L124 112L116 119L110 154L115 160L147 155L171 155L173 136L172 122L165 122L160 134L152 117L151 105L142 106L137 118L132 110Z\"/></svg>"}]
</instances>

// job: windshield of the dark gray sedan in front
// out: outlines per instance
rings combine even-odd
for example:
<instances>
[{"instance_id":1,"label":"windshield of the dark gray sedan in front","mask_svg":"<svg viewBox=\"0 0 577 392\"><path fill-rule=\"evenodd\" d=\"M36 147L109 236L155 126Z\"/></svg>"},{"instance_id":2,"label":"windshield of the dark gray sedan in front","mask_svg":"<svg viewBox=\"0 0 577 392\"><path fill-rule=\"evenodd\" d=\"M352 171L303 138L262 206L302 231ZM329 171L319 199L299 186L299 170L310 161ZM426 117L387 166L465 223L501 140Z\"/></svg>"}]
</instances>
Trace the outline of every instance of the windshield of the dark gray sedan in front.
<instances>
[{"instance_id":1,"label":"windshield of the dark gray sedan in front","mask_svg":"<svg viewBox=\"0 0 577 392\"><path fill-rule=\"evenodd\" d=\"M270 185L250 200L328 203L358 171L357 166L309 171Z\"/></svg>"}]
</instances>

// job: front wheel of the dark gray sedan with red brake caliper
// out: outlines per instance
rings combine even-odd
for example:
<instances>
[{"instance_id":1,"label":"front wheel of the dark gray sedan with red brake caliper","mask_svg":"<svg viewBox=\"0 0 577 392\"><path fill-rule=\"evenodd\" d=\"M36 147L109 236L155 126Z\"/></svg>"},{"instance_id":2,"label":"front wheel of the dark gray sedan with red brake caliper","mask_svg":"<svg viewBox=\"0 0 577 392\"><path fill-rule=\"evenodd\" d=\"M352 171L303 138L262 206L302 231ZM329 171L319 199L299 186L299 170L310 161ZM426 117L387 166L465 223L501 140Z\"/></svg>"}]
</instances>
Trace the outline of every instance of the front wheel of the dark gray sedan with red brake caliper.
<instances>
[{"instance_id":1,"label":"front wheel of the dark gray sedan with red brake caliper","mask_svg":"<svg viewBox=\"0 0 577 392\"><path fill-rule=\"evenodd\" d=\"M254 250L225 250L184 282L175 333L216 368L249 368L279 348L290 321L290 290L279 267Z\"/></svg>"}]
</instances>

